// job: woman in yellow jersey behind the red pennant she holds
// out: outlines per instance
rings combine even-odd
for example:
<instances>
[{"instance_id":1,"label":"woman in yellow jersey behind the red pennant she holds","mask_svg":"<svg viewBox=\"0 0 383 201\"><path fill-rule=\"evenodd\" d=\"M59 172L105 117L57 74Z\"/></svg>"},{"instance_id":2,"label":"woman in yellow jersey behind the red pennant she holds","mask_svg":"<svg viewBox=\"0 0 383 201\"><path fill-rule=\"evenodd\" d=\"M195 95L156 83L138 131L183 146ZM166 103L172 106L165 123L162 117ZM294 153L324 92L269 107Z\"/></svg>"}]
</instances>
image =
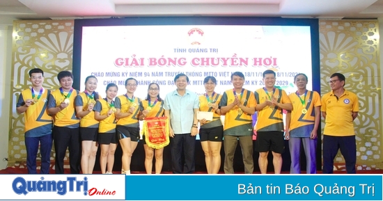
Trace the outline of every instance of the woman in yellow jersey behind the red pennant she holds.
<instances>
[{"instance_id":1,"label":"woman in yellow jersey behind the red pennant she holds","mask_svg":"<svg viewBox=\"0 0 383 201\"><path fill-rule=\"evenodd\" d=\"M139 119L162 117L164 115L164 102L159 97L159 86L157 83L150 83L148 86L148 95L141 102L141 113ZM153 155L155 154L155 173L160 174L162 170L164 148L153 149L146 145L145 136L143 136L143 148L145 150L145 169L146 173L151 174L153 169Z\"/></svg>"}]
</instances>

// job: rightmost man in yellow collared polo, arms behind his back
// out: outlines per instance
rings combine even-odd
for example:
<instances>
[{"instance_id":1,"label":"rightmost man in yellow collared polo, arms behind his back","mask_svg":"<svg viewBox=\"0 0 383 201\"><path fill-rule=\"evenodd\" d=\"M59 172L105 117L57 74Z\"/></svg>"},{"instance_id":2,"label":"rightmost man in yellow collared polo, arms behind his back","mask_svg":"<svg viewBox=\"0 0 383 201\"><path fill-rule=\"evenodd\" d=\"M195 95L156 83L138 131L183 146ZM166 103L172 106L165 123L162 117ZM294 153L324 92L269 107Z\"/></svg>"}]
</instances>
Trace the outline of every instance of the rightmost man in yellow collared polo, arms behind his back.
<instances>
[{"instance_id":1,"label":"rightmost man in yellow collared polo, arms behind his back","mask_svg":"<svg viewBox=\"0 0 383 201\"><path fill-rule=\"evenodd\" d=\"M358 116L359 102L354 93L345 90L345 76L334 73L328 81L331 92L322 97L322 116L325 118L323 132L323 173L332 174L338 150L345 158L348 174L356 174L357 144L353 121Z\"/></svg>"}]
</instances>

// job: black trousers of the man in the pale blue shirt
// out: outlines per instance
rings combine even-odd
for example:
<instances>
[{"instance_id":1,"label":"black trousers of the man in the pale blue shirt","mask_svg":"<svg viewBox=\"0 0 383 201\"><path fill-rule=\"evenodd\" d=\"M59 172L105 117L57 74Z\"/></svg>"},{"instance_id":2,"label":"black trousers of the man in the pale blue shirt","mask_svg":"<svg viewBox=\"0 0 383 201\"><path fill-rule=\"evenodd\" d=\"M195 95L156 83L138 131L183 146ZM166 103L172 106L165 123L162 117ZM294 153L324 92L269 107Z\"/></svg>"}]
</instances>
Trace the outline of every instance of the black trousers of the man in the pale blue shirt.
<instances>
[{"instance_id":1,"label":"black trousers of the man in the pale blue shirt","mask_svg":"<svg viewBox=\"0 0 383 201\"><path fill-rule=\"evenodd\" d=\"M170 138L170 144L173 174L192 174L196 170L194 159L196 136L190 136L190 134L175 134L174 138ZM184 164L182 164L182 150L184 151Z\"/></svg>"}]
</instances>

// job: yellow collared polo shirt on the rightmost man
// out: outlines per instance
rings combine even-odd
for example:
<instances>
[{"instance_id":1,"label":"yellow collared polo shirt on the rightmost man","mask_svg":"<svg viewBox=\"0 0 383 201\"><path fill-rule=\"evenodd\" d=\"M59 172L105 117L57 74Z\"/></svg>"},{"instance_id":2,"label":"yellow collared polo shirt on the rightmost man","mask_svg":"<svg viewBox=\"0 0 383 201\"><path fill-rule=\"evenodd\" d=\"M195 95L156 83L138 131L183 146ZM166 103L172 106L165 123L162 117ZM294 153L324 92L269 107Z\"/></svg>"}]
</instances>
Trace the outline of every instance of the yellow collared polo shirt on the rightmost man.
<instances>
[{"instance_id":1,"label":"yellow collared polo shirt on the rightmost man","mask_svg":"<svg viewBox=\"0 0 383 201\"><path fill-rule=\"evenodd\" d=\"M324 135L355 135L352 113L359 111L357 95L345 90L341 97L336 97L331 91L322 97L322 111L326 112Z\"/></svg>"}]
</instances>

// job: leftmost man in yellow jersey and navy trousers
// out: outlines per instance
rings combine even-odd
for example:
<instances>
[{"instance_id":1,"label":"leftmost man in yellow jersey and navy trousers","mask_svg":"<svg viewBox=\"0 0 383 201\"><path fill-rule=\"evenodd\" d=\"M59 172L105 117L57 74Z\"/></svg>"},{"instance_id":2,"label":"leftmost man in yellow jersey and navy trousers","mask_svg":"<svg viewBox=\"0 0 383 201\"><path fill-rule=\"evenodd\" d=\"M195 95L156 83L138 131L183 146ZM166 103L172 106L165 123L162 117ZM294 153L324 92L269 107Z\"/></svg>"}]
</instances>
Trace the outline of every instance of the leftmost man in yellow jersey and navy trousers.
<instances>
[{"instance_id":1,"label":"leftmost man in yellow jersey and navy trousers","mask_svg":"<svg viewBox=\"0 0 383 201\"><path fill-rule=\"evenodd\" d=\"M29 71L31 88L19 95L17 113L24 113L24 143L26 148L26 169L28 174L37 174L36 158L40 145L40 174L49 174L52 151L52 117L47 113L47 98L50 90L42 87L44 72L40 68Z\"/></svg>"}]
</instances>

